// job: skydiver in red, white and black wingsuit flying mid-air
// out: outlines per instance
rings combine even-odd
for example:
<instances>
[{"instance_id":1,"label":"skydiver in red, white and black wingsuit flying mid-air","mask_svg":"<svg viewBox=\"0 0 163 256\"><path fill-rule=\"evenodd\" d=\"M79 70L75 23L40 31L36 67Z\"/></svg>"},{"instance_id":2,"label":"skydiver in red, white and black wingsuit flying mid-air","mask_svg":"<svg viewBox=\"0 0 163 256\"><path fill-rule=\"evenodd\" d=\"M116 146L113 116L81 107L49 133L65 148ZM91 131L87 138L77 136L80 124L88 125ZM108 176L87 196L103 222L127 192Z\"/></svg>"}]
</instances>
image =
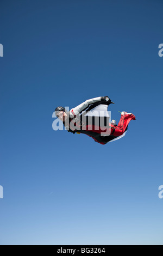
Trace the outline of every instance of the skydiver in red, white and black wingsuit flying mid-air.
<instances>
[{"instance_id":1,"label":"skydiver in red, white and black wingsuit flying mid-air","mask_svg":"<svg viewBox=\"0 0 163 256\"><path fill-rule=\"evenodd\" d=\"M68 132L84 133L95 142L104 145L122 138L126 134L130 120L135 120L135 115L123 111L118 125L115 120L110 123L108 106L111 103L114 102L111 102L108 96L95 97L70 111L66 111L64 107L57 107L55 114Z\"/></svg>"}]
</instances>

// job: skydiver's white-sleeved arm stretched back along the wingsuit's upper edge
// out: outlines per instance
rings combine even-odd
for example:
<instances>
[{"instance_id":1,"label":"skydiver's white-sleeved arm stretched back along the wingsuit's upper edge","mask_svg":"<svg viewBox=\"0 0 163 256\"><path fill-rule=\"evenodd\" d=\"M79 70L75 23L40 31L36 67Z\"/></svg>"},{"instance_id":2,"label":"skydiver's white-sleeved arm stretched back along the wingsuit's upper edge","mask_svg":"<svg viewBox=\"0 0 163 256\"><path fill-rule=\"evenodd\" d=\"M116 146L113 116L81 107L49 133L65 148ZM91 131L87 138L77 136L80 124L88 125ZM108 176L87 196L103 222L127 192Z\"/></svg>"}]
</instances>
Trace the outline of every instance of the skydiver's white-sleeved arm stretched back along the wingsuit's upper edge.
<instances>
[{"instance_id":1,"label":"skydiver's white-sleeved arm stretched back along the wingsuit's upper edge","mask_svg":"<svg viewBox=\"0 0 163 256\"><path fill-rule=\"evenodd\" d=\"M83 109L85 109L86 107L88 107L90 104L98 102L98 101L104 101L105 97L96 97L90 100L86 100L83 103L81 103L80 105L78 105L77 107L74 107L70 110L70 116L71 115L77 115L78 113L80 113Z\"/></svg>"}]
</instances>

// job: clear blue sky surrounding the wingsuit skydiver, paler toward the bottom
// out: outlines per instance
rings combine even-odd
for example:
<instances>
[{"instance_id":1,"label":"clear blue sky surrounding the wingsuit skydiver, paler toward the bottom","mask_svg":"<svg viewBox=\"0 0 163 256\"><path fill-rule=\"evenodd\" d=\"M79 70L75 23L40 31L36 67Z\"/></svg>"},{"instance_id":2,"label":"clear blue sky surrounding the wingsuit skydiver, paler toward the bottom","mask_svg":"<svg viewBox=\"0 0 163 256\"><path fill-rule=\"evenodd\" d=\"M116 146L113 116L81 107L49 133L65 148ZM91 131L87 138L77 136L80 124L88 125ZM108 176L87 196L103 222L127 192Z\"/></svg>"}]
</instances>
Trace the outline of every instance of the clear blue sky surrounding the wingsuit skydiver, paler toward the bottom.
<instances>
[{"instance_id":1,"label":"clear blue sky surrounding the wingsuit skydiver, paler toward the bottom","mask_svg":"<svg viewBox=\"0 0 163 256\"><path fill-rule=\"evenodd\" d=\"M1 0L1 245L163 245L163 2ZM106 145L52 129L108 95Z\"/></svg>"}]
</instances>

